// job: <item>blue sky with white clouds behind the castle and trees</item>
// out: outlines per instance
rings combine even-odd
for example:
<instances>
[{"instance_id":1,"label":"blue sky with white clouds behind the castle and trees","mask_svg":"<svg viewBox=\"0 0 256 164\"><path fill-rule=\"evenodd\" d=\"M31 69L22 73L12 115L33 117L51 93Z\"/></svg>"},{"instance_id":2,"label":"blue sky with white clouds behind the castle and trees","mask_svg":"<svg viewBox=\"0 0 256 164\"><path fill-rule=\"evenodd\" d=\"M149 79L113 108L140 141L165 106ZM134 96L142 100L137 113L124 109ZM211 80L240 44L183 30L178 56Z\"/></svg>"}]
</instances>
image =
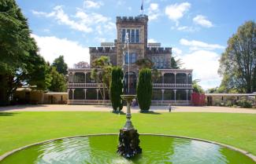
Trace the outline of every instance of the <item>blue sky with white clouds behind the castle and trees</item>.
<instances>
[{"instance_id":1,"label":"blue sky with white clouds behind the castle and trees","mask_svg":"<svg viewBox=\"0 0 256 164\"><path fill-rule=\"evenodd\" d=\"M65 56L69 67L89 61L88 47L116 38L116 16L137 16L138 0L17 0L46 60ZM204 88L218 86L218 60L228 38L256 20L255 0L144 0L149 42L173 47Z\"/></svg>"}]
</instances>

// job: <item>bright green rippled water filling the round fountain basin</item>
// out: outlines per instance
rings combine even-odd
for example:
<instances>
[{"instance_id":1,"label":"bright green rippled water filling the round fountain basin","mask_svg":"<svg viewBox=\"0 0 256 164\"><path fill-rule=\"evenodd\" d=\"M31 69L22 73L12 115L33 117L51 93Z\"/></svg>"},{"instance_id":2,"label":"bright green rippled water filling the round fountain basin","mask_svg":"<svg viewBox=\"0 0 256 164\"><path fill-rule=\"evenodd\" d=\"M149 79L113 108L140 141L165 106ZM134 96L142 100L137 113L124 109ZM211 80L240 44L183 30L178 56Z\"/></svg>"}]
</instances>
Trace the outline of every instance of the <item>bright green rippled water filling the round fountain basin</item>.
<instances>
[{"instance_id":1,"label":"bright green rippled water filling the round fountain basin","mask_svg":"<svg viewBox=\"0 0 256 164\"><path fill-rule=\"evenodd\" d=\"M139 139L143 153L133 159L124 159L116 153L117 135L92 135L50 140L22 148L7 155L0 164L255 163L239 151L201 140L161 135L140 135Z\"/></svg>"}]
</instances>

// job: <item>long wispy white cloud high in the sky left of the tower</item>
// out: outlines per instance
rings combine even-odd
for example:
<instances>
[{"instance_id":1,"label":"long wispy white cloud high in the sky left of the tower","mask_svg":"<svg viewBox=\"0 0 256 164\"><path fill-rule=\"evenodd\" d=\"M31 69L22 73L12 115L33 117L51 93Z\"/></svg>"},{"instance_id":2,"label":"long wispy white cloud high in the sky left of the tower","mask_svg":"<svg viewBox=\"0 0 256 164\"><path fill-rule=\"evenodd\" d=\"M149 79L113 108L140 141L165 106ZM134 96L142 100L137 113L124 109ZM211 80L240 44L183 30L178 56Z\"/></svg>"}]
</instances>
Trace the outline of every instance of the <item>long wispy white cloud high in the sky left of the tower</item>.
<instances>
[{"instance_id":1,"label":"long wispy white cloud high in the sky left of the tower","mask_svg":"<svg viewBox=\"0 0 256 164\"><path fill-rule=\"evenodd\" d=\"M95 30L95 26L110 24L111 18L102 16L99 13L85 13L81 9L77 9L75 16L69 16L64 12L63 7L58 5L50 13L32 11L37 16L53 17L58 24L64 24L76 31L90 33ZM72 18L73 19L72 19Z\"/></svg>"}]
</instances>

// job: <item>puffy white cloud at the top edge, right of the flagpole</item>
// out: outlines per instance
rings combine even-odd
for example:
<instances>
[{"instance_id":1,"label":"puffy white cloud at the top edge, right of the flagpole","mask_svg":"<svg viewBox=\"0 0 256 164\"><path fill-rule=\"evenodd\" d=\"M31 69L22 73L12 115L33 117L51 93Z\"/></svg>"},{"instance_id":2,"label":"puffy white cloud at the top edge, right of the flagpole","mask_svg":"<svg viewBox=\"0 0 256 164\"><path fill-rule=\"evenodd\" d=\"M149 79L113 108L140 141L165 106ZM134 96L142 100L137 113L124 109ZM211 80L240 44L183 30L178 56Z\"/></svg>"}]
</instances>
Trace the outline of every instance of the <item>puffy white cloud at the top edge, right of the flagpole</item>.
<instances>
[{"instance_id":1,"label":"puffy white cloud at the top edge, right of the flagpole","mask_svg":"<svg viewBox=\"0 0 256 164\"><path fill-rule=\"evenodd\" d=\"M180 3L180 4L174 4L174 5L168 5L165 7L165 14L169 17L170 20L178 21L180 18L184 16L184 13L186 13L191 7L191 4L188 2Z\"/></svg>"}]
</instances>

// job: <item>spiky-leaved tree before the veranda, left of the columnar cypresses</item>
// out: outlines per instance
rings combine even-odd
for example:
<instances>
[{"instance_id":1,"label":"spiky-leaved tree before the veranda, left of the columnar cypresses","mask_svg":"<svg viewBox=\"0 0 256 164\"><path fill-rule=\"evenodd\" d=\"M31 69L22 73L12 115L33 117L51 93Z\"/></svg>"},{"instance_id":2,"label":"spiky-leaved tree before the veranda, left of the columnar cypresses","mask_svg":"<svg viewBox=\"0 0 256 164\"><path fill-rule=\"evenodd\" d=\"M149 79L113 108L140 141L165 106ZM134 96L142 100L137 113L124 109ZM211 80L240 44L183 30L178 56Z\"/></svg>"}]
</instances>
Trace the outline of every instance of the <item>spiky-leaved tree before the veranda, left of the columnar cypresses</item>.
<instances>
[{"instance_id":1,"label":"spiky-leaved tree before the veranda, left of the columnar cypresses","mask_svg":"<svg viewBox=\"0 0 256 164\"><path fill-rule=\"evenodd\" d=\"M110 77L112 66L108 56L100 56L92 61L91 78L98 83L98 89L103 100L106 99L106 93L109 93ZM102 84L102 89L100 84Z\"/></svg>"}]
</instances>

